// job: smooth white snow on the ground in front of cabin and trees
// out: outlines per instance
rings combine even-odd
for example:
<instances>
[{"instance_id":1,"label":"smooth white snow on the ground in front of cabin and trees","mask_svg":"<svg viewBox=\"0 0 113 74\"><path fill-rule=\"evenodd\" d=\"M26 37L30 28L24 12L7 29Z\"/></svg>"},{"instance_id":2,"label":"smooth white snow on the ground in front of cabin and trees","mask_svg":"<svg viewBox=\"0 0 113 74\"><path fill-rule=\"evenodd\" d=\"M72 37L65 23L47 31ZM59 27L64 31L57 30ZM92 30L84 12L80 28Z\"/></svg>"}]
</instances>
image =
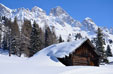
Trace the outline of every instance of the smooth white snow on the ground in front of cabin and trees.
<instances>
[{"instance_id":1,"label":"smooth white snow on the ground in front of cabin and trees","mask_svg":"<svg viewBox=\"0 0 113 74\"><path fill-rule=\"evenodd\" d=\"M113 65L64 66L41 53L32 58L0 54L0 74L113 74Z\"/></svg>"}]
</instances>

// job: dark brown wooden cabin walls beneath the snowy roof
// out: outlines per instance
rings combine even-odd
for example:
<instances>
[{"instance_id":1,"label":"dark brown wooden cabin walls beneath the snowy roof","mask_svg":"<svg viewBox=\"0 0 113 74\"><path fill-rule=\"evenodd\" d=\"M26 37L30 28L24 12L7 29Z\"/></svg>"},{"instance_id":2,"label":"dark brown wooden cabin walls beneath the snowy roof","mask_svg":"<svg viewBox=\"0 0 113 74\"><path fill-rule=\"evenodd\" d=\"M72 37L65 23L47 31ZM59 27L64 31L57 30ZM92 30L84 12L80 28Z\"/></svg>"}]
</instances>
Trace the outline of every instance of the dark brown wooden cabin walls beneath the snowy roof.
<instances>
[{"instance_id":1,"label":"dark brown wooden cabin walls beneath the snowy roof","mask_svg":"<svg viewBox=\"0 0 113 74\"><path fill-rule=\"evenodd\" d=\"M99 55L95 50L93 44L87 39L79 47L75 48L73 52L70 52L69 56L58 58L58 60L66 66L99 66Z\"/></svg>"}]
</instances>

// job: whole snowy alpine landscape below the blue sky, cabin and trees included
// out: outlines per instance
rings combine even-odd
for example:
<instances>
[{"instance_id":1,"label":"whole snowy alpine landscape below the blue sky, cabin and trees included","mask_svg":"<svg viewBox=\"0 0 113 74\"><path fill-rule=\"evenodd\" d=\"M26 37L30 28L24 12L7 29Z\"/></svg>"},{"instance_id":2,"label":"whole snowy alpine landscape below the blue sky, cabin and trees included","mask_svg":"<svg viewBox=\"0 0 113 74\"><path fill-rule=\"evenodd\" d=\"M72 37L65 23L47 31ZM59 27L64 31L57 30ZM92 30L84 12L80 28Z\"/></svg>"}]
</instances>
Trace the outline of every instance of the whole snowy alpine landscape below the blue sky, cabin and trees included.
<instances>
[{"instance_id":1,"label":"whole snowy alpine landscape below the blue sky, cabin and trees included","mask_svg":"<svg viewBox=\"0 0 113 74\"><path fill-rule=\"evenodd\" d=\"M47 15L0 4L0 74L113 74L113 28L75 20L60 6Z\"/></svg>"}]
</instances>

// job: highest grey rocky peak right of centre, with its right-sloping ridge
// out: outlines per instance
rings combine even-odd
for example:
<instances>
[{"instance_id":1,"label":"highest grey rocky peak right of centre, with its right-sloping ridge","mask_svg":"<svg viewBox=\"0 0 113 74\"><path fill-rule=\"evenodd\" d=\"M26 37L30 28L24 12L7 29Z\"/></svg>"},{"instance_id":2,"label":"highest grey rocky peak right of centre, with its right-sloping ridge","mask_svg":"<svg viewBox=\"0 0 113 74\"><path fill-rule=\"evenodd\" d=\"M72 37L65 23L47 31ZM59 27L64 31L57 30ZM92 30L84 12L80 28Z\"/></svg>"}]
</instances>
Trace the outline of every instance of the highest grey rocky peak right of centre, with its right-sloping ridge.
<instances>
[{"instance_id":1,"label":"highest grey rocky peak right of centre, with its right-sloping ridge","mask_svg":"<svg viewBox=\"0 0 113 74\"><path fill-rule=\"evenodd\" d=\"M56 8L52 8L50 11L50 16L54 17L54 20L58 22L59 24L64 25L64 23L70 24L71 26L75 27L81 26L81 23L77 20L74 20L64 9L62 9L60 6Z\"/></svg>"}]
</instances>

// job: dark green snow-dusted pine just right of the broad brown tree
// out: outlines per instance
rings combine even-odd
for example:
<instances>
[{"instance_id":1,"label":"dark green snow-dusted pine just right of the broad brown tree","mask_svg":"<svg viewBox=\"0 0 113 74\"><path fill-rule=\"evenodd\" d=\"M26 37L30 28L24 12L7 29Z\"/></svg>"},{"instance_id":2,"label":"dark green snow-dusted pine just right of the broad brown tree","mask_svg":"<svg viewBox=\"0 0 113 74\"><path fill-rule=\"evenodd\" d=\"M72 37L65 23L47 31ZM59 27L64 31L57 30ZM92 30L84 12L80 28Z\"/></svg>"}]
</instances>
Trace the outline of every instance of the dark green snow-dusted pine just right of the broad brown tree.
<instances>
[{"instance_id":1,"label":"dark green snow-dusted pine just right of the broad brown tree","mask_svg":"<svg viewBox=\"0 0 113 74\"><path fill-rule=\"evenodd\" d=\"M40 38L40 28L36 22L34 22L33 27L32 27L32 32L31 32L31 37L30 37L30 56L33 56L36 52L41 50L41 38Z\"/></svg>"}]
</instances>

